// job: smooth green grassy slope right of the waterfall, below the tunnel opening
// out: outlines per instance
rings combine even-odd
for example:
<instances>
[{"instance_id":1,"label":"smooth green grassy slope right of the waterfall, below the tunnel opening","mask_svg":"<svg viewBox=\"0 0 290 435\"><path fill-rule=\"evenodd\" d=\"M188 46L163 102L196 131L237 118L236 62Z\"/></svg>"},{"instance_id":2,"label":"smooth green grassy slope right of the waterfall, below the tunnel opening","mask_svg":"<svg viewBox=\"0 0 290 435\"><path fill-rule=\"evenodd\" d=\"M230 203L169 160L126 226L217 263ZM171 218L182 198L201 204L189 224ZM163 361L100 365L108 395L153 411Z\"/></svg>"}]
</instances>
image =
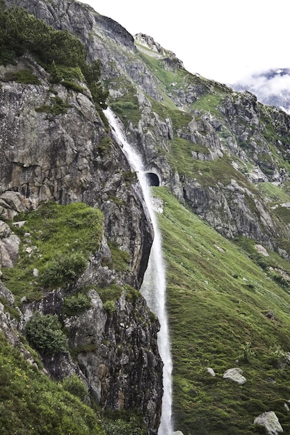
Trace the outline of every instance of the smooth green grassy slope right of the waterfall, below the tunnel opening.
<instances>
[{"instance_id":1,"label":"smooth green grassy slope right of the waterfall, below the tunnel opening","mask_svg":"<svg viewBox=\"0 0 290 435\"><path fill-rule=\"evenodd\" d=\"M276 369L271 363L276 346L290 348L289 294L269 272L279 258L264 257L262 270L249 258L261 263L251 240L243 243L251 251L246 254L165 188L154 192L164 201L160 224L167 262L175 427L185 435L250 434L256 430L254 418L273 410L287 433L284 401L290 398L290 368ZM288 263L282 267L289 272ZM273 321L264 315L271 309ZM247 342L255 356L243 351ZM225 370L236 366L247 379L243 386L222 379ZM216 377L207 373L208 367Z\"/></svg>"}]
</instances>

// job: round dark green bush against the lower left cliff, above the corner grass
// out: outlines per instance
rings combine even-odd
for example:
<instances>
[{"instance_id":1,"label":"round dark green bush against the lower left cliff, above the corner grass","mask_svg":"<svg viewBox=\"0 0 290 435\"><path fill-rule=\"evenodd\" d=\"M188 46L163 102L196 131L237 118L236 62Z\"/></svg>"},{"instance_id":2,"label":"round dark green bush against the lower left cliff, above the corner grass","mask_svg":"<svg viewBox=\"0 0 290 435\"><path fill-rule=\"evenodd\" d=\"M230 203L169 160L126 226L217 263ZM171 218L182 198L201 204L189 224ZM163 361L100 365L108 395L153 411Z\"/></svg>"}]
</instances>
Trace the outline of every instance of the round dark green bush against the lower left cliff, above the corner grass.
<instances>
[{"instance_id":1,"label":"round dark green bush against the lower left cliff, above the corner grass","mask_svg":"<svg viewBox=\"0 0 290 435\"><path fill-rule=\"evenodd\" d=\"M42 354L57 354L67 347L67 338L57 315L34 313L27 322L26 336L29 343Z\"/></svg>"}]
</instances>

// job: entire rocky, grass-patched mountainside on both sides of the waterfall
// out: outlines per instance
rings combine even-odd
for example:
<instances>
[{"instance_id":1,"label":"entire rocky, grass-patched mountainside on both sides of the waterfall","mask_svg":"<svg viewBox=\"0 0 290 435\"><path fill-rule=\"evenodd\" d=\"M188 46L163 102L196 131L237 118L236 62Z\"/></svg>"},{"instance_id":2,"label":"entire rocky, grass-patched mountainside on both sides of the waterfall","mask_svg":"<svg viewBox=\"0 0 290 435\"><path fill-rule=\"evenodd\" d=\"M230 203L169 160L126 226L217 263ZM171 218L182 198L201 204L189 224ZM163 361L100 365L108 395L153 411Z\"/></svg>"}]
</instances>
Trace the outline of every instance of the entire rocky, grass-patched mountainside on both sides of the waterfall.
<instances>
[{"instance_id":1,"label":"entire rocky, grass-patched mountainside on both sides of the waterfall","mask_svg":"<svg viewBox=\"0 0 290 435\"><path fill-rule=\"evenodd\" d=\"M289 115L77 1L6 0L0 19L3 434L158 431L154 234L106 104L162 211L175 430L269 433L275 413L287 432Z\"/></svg>"}]
</instances>

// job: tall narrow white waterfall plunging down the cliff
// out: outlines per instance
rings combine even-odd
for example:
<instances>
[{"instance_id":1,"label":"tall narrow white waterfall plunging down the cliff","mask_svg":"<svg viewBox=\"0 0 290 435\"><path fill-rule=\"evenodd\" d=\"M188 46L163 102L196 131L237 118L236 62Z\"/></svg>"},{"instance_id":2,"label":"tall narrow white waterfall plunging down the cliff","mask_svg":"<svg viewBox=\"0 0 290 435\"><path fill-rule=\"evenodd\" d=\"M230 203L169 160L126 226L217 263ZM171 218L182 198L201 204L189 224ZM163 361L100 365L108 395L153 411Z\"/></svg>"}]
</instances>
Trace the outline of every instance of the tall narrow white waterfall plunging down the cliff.
<instances>
[{"instance_id":1,"label":"tall narrow white waterfall plunging down the cliff","mask_svg":"<svg viewBox=\"0 0 290 435\"><path fill-rule=\"evenodd\" d=\"M166 268L162 256L161 233L156 220L152 197L150 195L150 186L143 168L143 162L134 149L129 145L122 131L120 122L110 108L104 110L104 114L111 125L113 136L122 146L122 151L127 156L131 169L136 171L140 186L143 191L145 204L150 213L154 229L154 242L150 252L150 259L141 293L153 313L159 318L160 331L158 333L158 346L161 359L163 361L163 399L161 411L161 423L158 435L172 435L171 407L172 407L172 386L171 372L172 359L170 353L170 340L168 331L168 321L166 314Z\"/></svg>"}]
</instances>

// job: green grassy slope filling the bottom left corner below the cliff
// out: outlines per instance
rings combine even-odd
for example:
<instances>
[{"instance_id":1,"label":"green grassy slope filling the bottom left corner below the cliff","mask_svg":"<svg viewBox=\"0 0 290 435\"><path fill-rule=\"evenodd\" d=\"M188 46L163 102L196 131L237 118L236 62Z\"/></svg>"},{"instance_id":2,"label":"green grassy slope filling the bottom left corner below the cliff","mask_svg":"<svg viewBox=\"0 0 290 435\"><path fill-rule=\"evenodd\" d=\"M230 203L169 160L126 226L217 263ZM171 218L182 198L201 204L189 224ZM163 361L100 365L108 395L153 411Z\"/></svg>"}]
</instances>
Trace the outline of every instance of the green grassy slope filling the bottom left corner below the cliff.
<instances>
[{"instance_id":1,"label":"green grassy slope filling the bottom left corner below the cliff","mask_svg":"<svg viewBox=\"0 0 290 435\"><path fill-rule=\"evenodd\" d=\"M0 334L2 435L105 435L97 413L29 365Z\"/></svg>"}]
</instances>

